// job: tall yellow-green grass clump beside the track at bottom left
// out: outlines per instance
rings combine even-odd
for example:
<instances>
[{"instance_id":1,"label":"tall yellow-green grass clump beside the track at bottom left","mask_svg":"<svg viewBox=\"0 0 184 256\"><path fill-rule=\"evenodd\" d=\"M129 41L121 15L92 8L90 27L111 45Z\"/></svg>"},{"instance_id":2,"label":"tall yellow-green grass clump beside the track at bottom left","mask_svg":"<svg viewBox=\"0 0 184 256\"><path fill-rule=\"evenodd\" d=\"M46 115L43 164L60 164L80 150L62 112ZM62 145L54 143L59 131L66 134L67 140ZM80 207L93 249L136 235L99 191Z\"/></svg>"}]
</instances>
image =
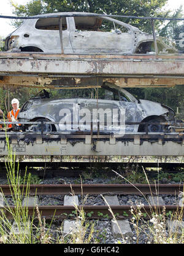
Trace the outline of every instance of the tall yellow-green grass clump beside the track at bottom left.
<instances>
[{"instance_id":1,"label":"tall yellow-green grass clump beside the track at bottom left","mask_svg":"<svg viewBox=\"0 0 184 256\"><path fill-rule=\"evenodd\" d=\"M12 209L6 200L6 197L2 194L5 202L4 208L1 208L0 215L0 234L1 242L10 244L27 244L33 239L33 218L28 215L28 207L26 203L23 204L23 200L28 200L29 197L29 181L30 175L28 175L27 183L23 180L23 190L20 189L20 174L18 169L15 170L15 154L13 155L12 149L9 144L9 139L6 137L7 150L9 154L6 159L7 168L7 180L10 185L10 191L13 204L15 208ZM24 195L25 194L25 195ZM12 216L12 220L7 218L6 212Z\"/></svg>"}]
</instances>

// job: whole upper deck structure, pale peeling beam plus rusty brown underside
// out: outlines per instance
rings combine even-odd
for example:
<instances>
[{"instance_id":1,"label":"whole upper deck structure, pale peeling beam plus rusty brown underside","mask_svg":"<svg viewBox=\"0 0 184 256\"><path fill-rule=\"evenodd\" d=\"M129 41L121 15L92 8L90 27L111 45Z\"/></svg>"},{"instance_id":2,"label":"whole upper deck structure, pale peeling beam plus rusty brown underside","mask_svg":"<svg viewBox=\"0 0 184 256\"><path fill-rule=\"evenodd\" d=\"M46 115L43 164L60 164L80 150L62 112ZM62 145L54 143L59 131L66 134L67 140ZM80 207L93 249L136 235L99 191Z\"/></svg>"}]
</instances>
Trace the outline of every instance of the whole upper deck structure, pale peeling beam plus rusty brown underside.
<instances>
[{"instance_id":1,"label":"whole upper deck structure, pale peeling beam plus rusty brown underside","mask_svg":"<svg viewBox=\"0 0 184 256\"><path fill-rule=\"evenodd\" d=\"M171 87L184 84L184 55L0 53L2 87Z\"/></svg>"}]
</instances>

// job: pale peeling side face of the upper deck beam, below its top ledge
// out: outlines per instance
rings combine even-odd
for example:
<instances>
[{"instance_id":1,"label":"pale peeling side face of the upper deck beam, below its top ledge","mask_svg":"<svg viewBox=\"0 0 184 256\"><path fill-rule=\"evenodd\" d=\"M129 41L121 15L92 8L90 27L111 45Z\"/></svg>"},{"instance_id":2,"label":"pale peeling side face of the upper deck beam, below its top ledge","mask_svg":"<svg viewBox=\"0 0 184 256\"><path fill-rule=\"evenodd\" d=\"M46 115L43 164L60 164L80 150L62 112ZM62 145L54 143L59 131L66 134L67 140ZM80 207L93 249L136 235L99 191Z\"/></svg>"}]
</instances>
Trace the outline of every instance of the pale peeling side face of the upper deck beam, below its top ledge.
<instances>
[{"instance_id":1,"label":"pale peeling side face of the upper deck beam, below its top ledge","mask_svg":"<svg viewBox=\"0 0 184 256\"><path fill-rule=\"evenodd\" d=\"M88 74L106 76L183 76L181 60L16 60L0 59L0 74L67 74L72 77ZM149 77L148 77L149 78Z\"/></svg>"}]
</instances>

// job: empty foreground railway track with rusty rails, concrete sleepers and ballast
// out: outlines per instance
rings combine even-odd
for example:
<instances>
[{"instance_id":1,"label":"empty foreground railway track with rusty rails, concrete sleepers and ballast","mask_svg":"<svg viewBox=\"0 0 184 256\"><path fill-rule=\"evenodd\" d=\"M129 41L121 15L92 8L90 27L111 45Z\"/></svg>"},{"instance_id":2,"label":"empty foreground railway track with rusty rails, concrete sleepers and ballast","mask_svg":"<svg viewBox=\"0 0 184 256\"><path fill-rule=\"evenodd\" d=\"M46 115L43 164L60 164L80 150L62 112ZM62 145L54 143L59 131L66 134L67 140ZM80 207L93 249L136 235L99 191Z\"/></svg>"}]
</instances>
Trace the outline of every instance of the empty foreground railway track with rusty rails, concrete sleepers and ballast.
<instances>
[{"instance_id":1,"label":"empty foreground railway track with rusty rails, concrete sleepers and ballast","mask_svg":"<svg viewBox=\"0 0 184 256\"><path fill-rule=\"evenodd\" d=\"M60 223L59 230L61 230L62 223L62 232L64 234L67 234L75 225L80 224L83 216L81 212L84 212L85 220L89 220L90 223L98 223L96 224L97 230L101 230L101 227L102 230L106 230L110 235L110 241L115 241L113 239L117 238L122 239L122 233L125 234L125 237L134 235L136 239L138 235L136 235L133 227L136 220L132 222L132 217L136 216L134 214L140 214L140 212L140 220L144 219L144 223L149 225L153 215L163 214L164 209L169 232L175 223L171 222L172 217L178 219L179 215L180 224L177 225L184 225L181 220L181 218L184 218L184 200L179 196L180 192L183 192L183 184L31 184L28 188L28 198L25 198L26 186L19 185L19 188L23 200L20 204L25 206L25 203L27 203L28 206L26 214L34 216L35 219L35 217L39 216L37 215L39 209L40 216L44 217L47 223L56 220L56 223ZM5 204L2 207L0 197L0 211L3 208L6 218L13 220L12 223L16 227L17 224L13 216L17 211L20 212L21 207L17 208L17 204L14 205L12 185L0 185L0 190L5 198ZM176 198L176 203L174 203L173 199L170 201L172 204L166 203L168 195ZM129 200L126 203L123 201L123 198L131 198L131 196L132 198L137 198L137 200L133 200L132 203ZM48 198L50 198L50 201ZM93 203L92 199L91 203L91 198L94 198L94 202L98 198L98 202ZM58 200L59 203L55 200ZM183 200L182 205L180 203L181 200ZM51 203L52 205L50 205ZM134 209L134 214L132 209ZM121 231L117 230L117 224L113 220L114 216L118 220ZM19 230L18 232L21 231ZM145 239L144 236L140 237L143 240Z\"/></svg>"}]
</instances>

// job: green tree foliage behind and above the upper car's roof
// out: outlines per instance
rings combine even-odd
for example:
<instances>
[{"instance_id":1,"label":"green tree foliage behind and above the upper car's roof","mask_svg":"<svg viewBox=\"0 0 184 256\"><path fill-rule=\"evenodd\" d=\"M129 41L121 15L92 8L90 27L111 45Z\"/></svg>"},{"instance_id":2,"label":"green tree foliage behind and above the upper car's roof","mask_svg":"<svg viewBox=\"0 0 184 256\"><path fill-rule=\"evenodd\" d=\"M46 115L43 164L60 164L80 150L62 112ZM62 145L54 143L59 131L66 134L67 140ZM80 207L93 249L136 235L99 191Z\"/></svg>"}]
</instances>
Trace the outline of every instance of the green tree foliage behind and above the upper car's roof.
<instances>
[{"instance_id":1,"label":"green tree foliage behind and above the upper car's roof","mask_svg":"<svg viewBox=\"0 0 184 256\"><path fill-rule=\"evenodd\" d=\"M171 11L162 10L168 0L31 0L26 5L11 1L14 14L29 16L52 12L93 12L96 14L134 15L139 17L171 17ZM150 20L118 18L125 23L150 33ZM155 21L159 28L162 21ZM19 25L17 21L14 23Z\"/></svg>"}]
</instances>

